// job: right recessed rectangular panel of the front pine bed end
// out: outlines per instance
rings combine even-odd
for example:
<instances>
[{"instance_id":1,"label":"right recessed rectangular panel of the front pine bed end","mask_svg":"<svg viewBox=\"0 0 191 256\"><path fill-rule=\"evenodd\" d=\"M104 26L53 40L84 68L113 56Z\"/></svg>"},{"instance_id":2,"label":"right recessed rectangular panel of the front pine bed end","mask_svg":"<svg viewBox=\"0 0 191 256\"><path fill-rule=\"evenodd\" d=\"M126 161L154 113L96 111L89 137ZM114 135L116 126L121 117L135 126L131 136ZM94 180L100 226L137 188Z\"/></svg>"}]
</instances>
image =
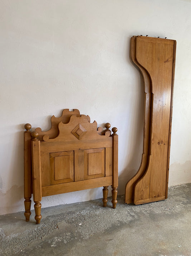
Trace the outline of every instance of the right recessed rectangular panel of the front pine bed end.
<instances>
[{"instance_id":1,"label":"right recessed rectangular panel of the front pine bed end","mask_svg":"<svg viewBox=\"0 0 191 256\"><path fill-rule=\"evenodd\" d=\"M105 176L105 148L86 149L84 151L85 179Z\"/></svg>"}]
</instances>

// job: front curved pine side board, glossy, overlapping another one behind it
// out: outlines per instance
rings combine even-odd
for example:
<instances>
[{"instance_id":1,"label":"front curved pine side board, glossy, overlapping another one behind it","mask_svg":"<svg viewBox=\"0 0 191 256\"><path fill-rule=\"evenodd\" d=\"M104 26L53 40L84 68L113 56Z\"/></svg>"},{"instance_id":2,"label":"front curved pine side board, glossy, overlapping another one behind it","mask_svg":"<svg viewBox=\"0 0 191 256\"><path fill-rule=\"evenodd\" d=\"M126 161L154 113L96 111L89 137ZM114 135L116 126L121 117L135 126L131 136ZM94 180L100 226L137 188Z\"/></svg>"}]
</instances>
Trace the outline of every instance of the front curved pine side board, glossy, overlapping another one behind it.
<instances>
[{"instance_id":1,"label":"front curved pine side board, glossy, overlapping another one behind it","mask_svg":"<svg viewBox=\"0 0 191 256\"><path fill-rule=\"evenodd\" d=\"M149 163L135 184L135 204L167 197L175 51L175 40L136 38L136 59L151 77L153 101Z\"/></svg>"}]
</instances>

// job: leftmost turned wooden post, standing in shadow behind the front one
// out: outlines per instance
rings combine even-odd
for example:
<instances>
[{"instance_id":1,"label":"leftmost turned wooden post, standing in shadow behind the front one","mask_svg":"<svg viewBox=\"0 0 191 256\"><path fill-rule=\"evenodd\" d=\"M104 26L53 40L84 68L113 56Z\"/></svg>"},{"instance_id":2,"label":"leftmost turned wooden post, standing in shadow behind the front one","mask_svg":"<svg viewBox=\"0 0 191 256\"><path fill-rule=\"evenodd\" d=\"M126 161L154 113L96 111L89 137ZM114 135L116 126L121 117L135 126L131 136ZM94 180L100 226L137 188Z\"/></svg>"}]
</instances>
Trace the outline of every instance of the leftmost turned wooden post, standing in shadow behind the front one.
<instances>
[{"instance_id":1,"label":"leftmost turned wooden post, standing in shadow behind the front one","mask_svg":"<svg viewBox=\"0 0 191 256\"><path fill-rule=\"evenodd\" d=\"M31 125L25 124L26 131L24 132L24 207L25 207L25 219L30 220L30 206L32 195L32 166L31 166Z\"/></svg>"}]
</instances>

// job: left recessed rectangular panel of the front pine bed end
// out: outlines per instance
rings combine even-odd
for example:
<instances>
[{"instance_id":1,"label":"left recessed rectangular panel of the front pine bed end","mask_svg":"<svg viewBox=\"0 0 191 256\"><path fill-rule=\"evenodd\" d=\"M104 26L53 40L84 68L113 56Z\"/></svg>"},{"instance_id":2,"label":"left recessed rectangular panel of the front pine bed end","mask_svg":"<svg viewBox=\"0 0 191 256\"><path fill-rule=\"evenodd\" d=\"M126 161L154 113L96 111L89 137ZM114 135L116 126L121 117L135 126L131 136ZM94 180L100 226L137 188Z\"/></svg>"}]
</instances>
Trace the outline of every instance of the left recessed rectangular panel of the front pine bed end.
<instances>
[{"instance_id":1,"label":"left recessed rectangular panel of the front pine bed end","mask_svg":"<svg viewBox=\"0 0 191 256\"><path fill-rule=\"evenodd\" d=\"M74 181L73 151L50 154L51 184Z\"/></svg>"}]
</instances>

